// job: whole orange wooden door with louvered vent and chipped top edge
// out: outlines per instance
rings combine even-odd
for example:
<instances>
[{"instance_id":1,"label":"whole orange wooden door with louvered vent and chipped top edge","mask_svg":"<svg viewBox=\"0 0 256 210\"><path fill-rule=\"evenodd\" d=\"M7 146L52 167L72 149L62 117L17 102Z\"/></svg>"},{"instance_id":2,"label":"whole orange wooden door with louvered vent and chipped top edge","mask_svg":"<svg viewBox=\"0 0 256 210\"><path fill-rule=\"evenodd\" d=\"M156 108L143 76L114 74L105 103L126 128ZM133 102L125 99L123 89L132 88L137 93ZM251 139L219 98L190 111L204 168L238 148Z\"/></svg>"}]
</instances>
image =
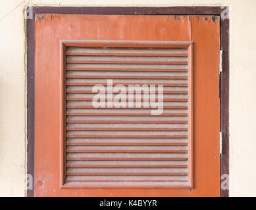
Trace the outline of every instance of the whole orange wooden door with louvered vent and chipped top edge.
<instances>
[{"instance_id":1,"label":"whole orange wooden door with louvered vent and chipped top edge","mask_svg":"<svg viewBox=\"0 0 256 210\"><path fill-rule=\"evenodd\" d=\"M220 196L219 52L213 16L37 14L35 196ZM111 78L163 85L163 114L84 114Z\"/></svg>"}]
</instances>

